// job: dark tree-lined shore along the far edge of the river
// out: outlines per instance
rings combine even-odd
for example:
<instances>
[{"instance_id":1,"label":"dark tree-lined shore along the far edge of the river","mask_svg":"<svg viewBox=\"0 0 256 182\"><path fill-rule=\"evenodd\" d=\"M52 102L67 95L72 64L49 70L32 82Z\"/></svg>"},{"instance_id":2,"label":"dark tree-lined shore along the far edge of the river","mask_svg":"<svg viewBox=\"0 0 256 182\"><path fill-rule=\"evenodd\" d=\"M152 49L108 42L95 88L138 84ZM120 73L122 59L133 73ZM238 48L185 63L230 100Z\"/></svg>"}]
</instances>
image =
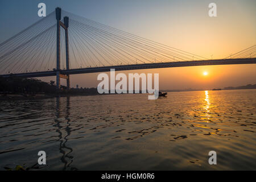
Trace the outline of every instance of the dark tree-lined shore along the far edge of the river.
<instances>
[{"instance_id":1,"label":"dark tree-lined shore along the far edge of the river","mask_svg":"<svg viewBox=\"0 0 256 182\"><path fill-rule=\"evenodd\" d=\"M256 84L245 86L229 86L225 88L213 88L209 90L237 90L237 89L256 89ZM159 90L162 92L191 92L203 91L205 89L175 89ZM110 91L110 90L109 90ZM139 93L142 91L139 90ZM117 93L115 93L117 94ZM97 88L82 88L77 85L76 88L67 88L61 85L56 89L55 81L44 82L36 78L19 78L19 77L0 77L0 101L8 100L35 100L53 97L68 96L101 96Z\"/></svg>"}]
</instances>

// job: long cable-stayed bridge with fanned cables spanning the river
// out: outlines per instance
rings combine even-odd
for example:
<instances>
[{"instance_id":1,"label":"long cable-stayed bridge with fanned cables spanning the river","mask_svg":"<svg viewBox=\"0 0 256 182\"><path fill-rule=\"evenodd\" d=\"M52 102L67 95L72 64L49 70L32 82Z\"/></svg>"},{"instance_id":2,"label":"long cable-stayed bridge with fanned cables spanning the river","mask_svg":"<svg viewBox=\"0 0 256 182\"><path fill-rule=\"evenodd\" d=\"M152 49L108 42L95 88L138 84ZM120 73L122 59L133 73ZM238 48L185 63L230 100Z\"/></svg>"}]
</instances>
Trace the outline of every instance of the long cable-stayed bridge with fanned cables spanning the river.
<instances>
[{"instance_id":1,"label":"long cable-stayed bridge with fanned cables spanning the river","mask_svg":"<svg viewBox=\"0 0 256 182\"><path fill-rule=\"evenodd\" d=\"M64 18L61 18L64 17ZM93 72L255 64L256 45L224 59L207 59L56 8L0 44L0 76L60 78Z\"/></svg>"}]
</instances>

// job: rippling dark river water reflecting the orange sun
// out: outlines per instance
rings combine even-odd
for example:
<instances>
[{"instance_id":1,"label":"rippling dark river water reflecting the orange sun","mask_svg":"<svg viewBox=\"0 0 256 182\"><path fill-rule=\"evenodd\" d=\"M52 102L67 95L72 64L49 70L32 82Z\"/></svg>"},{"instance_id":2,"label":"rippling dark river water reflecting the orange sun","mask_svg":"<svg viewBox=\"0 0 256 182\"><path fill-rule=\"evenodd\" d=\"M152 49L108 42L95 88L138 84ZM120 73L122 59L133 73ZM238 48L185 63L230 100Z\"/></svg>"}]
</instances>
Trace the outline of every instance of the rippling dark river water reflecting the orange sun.
<instances>
[{"instance_id":1,"label":"rippling dark river water reflecting the orange sun","mask_svg":"<svg viewBox=\"0 0 256 182\"><path fill-rule=\"evenodd\" d=\"M0 168L255 170L255 132L256 90L1 101Z\"/></svg>"}]
</instances>

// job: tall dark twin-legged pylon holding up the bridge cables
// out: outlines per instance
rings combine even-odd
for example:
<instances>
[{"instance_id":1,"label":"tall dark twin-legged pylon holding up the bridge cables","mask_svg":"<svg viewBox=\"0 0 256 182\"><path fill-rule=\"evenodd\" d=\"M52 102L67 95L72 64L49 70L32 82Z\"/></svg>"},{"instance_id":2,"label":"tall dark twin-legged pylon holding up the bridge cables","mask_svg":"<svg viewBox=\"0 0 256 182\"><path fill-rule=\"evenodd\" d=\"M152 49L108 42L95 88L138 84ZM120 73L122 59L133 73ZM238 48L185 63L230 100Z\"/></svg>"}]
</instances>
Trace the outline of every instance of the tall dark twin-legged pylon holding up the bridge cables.
<instances>
[{"instance_id":1,"label":"tall dark twin-legged pylon holding up the bridge cables","mask_svg":"<svg viewBox=\"0 0 256 182\"><path fill-rule=\"evenodd\" d=\"M66 69L69 69L69 49L68 49L68 26L69 18L64 17L64 23L61 22L61 9L56 7L56 20L57 20L57 47L56 47L56 88L60 89L60 78L65 78L67 80L67 89L70 87L70 77L69 75L61 75L60 73L60 27L63 27L65 30L65 53L66 53Z\"/></svg>"}]
</instances>

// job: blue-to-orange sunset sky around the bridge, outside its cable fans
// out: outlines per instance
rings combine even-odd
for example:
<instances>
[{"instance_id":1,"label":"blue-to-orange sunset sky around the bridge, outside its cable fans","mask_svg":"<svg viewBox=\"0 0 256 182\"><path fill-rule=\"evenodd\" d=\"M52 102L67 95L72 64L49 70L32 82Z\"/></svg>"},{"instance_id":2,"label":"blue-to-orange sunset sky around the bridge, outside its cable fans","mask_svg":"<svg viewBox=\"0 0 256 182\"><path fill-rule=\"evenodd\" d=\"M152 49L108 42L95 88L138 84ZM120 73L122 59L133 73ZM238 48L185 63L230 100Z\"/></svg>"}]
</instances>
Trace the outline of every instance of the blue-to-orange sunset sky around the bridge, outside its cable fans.
<instances>
[{"instance_id":1,"label":"blue-to-orange sunset sky around the bridge, outside its cable fans","mask_svg":"<svg viewBox=\"0 0 256 182\"><path fill-rule=\"evenodd\" d=\"M38 3L47 14L59 6L102 24L155 42L213 59L221 59L256 44L256 1L1 1L0 43L40 18ZM208 5L217 4L210 18ZM159 73L160 89L222 88L256 84L256 65L216 65L162 68L125 73ZM203 73L207 72L207 75ZM96 87L98 73L72 75L71 86ZM40 78L45 81L54 77ZM63 85L65 80L61 80Z\"/></svg>"}]
</instances>

